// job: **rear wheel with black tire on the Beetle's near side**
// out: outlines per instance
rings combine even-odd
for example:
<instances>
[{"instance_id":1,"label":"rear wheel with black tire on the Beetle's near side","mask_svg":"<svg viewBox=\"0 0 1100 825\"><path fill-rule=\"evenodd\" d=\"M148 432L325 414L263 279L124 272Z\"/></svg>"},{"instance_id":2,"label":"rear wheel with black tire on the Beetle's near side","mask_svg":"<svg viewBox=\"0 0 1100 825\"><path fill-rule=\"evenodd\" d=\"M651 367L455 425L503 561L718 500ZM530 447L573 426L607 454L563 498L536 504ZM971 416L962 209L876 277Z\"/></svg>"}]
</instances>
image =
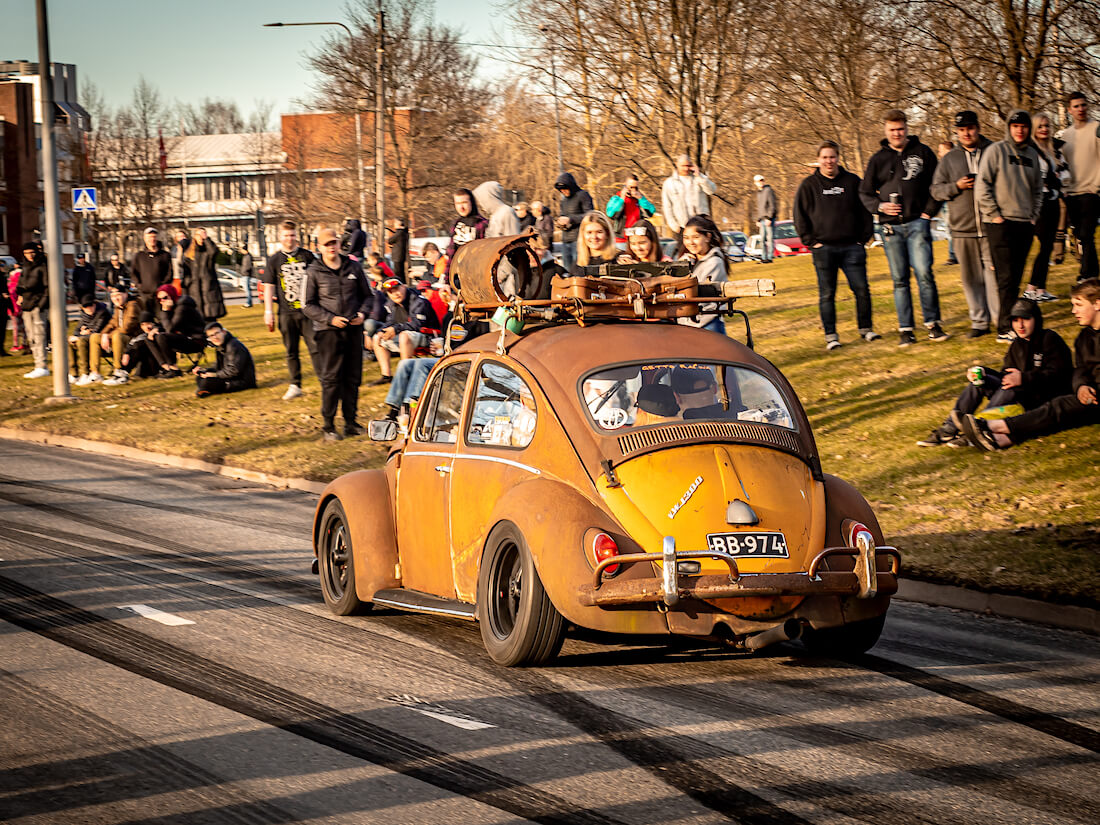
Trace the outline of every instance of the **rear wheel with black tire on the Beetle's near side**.
<instances>
[{"instance_id":1,"label":"rear wheel with black tire on the Beetle's near side","mask_svg":"<svg viewBox=\"0 0 1100 825\"><path fill-rule=\"evenodd\" d=\"M551 604L519 528L493 529L477 573L477 623L490 658L506 668L558 656L565 622Z\"/></svg>"}]
</instances>

